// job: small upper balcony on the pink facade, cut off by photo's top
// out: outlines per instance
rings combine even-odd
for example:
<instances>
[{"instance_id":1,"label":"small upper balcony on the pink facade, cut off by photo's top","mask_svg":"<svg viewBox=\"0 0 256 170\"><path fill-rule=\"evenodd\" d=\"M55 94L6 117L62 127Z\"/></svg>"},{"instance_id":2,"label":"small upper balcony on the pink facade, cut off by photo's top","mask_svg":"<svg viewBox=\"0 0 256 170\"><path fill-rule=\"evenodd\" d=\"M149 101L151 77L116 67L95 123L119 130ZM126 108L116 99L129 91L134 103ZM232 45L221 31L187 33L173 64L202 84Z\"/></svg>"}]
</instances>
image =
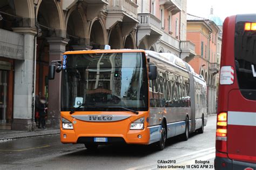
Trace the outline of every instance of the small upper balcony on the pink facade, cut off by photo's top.
<instances>
[{"instance_id":1,"label":"small upper balcony on the pink facade, cut off by photo's top","mask_svg":"<svg viewBox=\"0 0 256 170\"><path fill-rule=\"evenodd\" d=\"M164 5L164 8L172 12L172 15L181 11L180 0L160 0L160 5Z\"/></svg>"}]
</instances>

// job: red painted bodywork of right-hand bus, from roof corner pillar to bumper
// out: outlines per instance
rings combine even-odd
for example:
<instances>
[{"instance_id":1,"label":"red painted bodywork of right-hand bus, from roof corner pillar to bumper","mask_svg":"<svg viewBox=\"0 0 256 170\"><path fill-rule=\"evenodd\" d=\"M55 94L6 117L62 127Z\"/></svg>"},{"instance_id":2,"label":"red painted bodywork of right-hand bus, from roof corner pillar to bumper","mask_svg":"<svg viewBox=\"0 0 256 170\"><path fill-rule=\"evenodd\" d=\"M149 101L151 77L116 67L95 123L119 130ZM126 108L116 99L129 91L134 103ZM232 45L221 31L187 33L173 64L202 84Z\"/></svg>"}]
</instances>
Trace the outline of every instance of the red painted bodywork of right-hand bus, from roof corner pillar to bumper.
<instances>
[{"instance_id":1,"label":"red painted bodywork of right-hand bus, from roof corner pillar to bumper","mask_svg":"<svg viewBox=\"0 0 256 170\"><path fill-rule=\"evenodd\" d=\"M235 16L227 17L223 25L221 66L232 66L234 62ZM234 71L232 85L220 85L218 94L218 113L254 112L256 101L245 99L238 86L237 73ZM227 114L228 117L228 114ZM227 155L229 159L256 162L256 126L227 125Z\"/></svg>"}]
</instances>

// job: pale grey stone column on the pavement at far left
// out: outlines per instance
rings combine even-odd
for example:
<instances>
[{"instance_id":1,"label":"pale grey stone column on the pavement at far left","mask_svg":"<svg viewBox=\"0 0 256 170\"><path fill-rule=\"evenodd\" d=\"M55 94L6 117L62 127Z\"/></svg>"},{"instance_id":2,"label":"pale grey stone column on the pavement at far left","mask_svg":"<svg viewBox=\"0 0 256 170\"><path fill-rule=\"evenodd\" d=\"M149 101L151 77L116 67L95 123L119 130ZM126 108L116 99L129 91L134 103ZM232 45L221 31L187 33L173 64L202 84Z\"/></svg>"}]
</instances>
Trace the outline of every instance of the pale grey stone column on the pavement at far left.
<instances>
[{"instance_id":1,"label":"pale grey stone column on the pavement at far left","mask_svg":"<svg viewBox=\"0 0 256 170\"><path fill-rule=\"evenodd\" d=\"M32 131L36 124L33 123L33 93L35 67L34 40L36 29L13 28L17 33L24 35L24 60L15 60L14 68L14 116L12 130Z\"/></svg>"}]
</instances>

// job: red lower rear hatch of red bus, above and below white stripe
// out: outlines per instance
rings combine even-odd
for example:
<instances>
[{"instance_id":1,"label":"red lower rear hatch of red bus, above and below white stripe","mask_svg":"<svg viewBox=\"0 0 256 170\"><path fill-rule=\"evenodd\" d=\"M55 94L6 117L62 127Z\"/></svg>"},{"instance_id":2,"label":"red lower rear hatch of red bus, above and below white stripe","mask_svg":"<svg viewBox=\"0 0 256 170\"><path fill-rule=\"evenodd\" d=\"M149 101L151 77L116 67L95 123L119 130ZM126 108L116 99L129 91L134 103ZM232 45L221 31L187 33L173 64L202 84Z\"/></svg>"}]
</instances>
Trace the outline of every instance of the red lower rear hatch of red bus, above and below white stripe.
<instances>
[{"instance_id":1,"label":"red lower rear hatch of red bus, above and below white stripe","mask_svg":"<svg viewBox=\"0 0 256 170\"><path fill-rule=\"evenodd\" d=\"M245 99L240 90L232 90L228 96L228 111L256 114L256 101ZM256 126L228 125L227 152L230 159L256 163Z\"/></svg>"}]
</instances>

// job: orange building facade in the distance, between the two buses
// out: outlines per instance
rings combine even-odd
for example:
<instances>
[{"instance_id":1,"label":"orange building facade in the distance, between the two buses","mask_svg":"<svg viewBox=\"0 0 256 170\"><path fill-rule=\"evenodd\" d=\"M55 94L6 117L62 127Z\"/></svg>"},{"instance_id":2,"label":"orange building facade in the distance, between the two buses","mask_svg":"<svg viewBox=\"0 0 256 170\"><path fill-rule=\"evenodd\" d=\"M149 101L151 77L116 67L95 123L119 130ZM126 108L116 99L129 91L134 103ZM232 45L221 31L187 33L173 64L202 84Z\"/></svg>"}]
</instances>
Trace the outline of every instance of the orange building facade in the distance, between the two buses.
<instances>
[{"instance_id":1,"label":"orange building facade in the distance, between the two buses","mask_svg":"<svg viewBox=\"0 0 256 170\"><path fill-rule=\"evenodd\" d=\"M212 11L212 10L211 10ZM196 56L189 64L207 83L208 113L216 113L221 30L210 19L187 15L187 39L196 44Z\"/></svg>"}]
</instances>

